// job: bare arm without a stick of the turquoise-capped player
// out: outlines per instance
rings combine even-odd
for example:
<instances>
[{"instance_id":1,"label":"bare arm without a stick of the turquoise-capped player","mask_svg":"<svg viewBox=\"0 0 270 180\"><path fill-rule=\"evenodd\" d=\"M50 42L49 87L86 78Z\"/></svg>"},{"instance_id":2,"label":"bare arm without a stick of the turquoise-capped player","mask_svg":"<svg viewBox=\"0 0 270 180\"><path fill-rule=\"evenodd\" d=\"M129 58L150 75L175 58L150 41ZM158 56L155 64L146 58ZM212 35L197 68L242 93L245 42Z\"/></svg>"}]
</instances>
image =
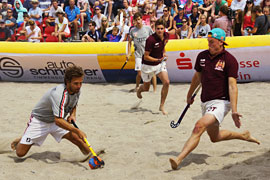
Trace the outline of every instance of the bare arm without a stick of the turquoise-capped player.
<instances>
[{"instance_id":1,"label":"bare arm without a stick of the turquoise-capped player","mask_svg":"<svg viewBox=\"0 0 270 180\"><path fill-rule=\"evenodd\" d=\"M229 95L232 108L232 118L234 120L235 126L240 128L241 126L240 117L242 117L242 115L237 112L238 88L237 88L237 80L233 77L229 77Z\"/></svg>"}]
</instances>

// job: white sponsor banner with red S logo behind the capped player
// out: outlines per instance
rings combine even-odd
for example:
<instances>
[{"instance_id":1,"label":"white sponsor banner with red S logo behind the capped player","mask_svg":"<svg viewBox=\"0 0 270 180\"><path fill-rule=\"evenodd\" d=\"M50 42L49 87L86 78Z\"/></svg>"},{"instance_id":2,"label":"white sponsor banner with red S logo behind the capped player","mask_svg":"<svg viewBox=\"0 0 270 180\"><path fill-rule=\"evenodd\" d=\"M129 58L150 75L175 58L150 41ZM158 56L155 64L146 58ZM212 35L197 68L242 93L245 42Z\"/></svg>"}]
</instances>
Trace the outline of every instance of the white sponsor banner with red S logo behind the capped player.
<instances>
[{"instance_id":1,"label":"white sponsor banner with red S logo behind the capped player","mask_svg":"<svg viewBox=\"0 0 270 180\"><path fill-rule=\"evenodd\" d=\"M226 49L238 61L238 82L269 81L270 47L242 47ZM203 50L167 52L167 69L171 82L191 82L197 55Z\"/></svg>"}]
</instances>

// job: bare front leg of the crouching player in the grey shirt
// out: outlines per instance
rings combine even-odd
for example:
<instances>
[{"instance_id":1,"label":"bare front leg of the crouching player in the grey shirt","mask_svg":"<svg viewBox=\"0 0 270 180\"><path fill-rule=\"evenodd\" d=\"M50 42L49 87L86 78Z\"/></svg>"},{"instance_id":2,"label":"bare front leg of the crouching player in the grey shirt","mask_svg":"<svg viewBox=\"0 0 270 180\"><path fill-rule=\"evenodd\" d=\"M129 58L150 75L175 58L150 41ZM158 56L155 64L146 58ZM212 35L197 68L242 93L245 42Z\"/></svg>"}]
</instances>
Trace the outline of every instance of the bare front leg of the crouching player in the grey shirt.
<instances>
[{"instance_id":1,"label":"bare front leg of the crouching player in the grey shirt","mask_svg":"<svg viewBox=\"0 0 270 180\"><path fill-rule=\"evenodd\" d=\"M63 138L69 140L70 142L78 146L78 148L84 155L88 155L90 153L90 149L87 144L81 138L79 138L77 134L69 132L64 135Z\"/></svg>"}]
</instances>

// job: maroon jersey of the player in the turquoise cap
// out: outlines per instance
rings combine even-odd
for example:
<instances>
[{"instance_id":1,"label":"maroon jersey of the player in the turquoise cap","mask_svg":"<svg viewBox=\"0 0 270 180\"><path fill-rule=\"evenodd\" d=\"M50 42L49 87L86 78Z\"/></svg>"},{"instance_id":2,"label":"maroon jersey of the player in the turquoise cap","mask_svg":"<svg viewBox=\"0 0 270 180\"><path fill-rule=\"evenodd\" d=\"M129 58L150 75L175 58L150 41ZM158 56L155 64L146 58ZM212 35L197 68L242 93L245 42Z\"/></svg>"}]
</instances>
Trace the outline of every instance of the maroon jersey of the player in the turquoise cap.
<instances>
[{"instance_id":1,"label":"maroon jersey of the player in the turquoise cap","mask_svg":"<svg viewBox=\"0 0 270 180\"><path fill-rule=\"evenodd\" d=\"M201 101L230 100L228 78L237 78L238 63L233 55L223 50L211 59L209 50L197 56L195 70L201 72Z\"/></svg>"}]
</instances>

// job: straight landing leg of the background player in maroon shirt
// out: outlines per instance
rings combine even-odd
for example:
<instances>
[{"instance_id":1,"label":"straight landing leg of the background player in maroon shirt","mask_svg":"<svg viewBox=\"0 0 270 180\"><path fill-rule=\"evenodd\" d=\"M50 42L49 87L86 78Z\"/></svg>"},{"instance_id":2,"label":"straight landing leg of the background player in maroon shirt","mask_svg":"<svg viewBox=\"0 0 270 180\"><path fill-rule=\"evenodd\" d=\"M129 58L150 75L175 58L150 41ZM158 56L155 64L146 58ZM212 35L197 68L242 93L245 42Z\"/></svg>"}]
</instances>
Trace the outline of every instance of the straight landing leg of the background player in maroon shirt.
<instances>
[{"instance_id":1,"label":"straight landing leg of the background player in maroon shirt","mask_svg":"<svg viewBox=\"0 0 270 180\"><path fill-rule=\"evenodd\" d=\"M165 111L164 109L164 104L165 104L165 100L167 98L168 95L168 91L169 91L169 85L170 85L170 80L168 77L168 73L165 71L162 71L161 73L158 74L159 79L162 81L162 89L161 89L161 100L160 100L160 106L159 106L159 110L164 114L168 114L167 111Z\"/></svg>"}]
</instances>

